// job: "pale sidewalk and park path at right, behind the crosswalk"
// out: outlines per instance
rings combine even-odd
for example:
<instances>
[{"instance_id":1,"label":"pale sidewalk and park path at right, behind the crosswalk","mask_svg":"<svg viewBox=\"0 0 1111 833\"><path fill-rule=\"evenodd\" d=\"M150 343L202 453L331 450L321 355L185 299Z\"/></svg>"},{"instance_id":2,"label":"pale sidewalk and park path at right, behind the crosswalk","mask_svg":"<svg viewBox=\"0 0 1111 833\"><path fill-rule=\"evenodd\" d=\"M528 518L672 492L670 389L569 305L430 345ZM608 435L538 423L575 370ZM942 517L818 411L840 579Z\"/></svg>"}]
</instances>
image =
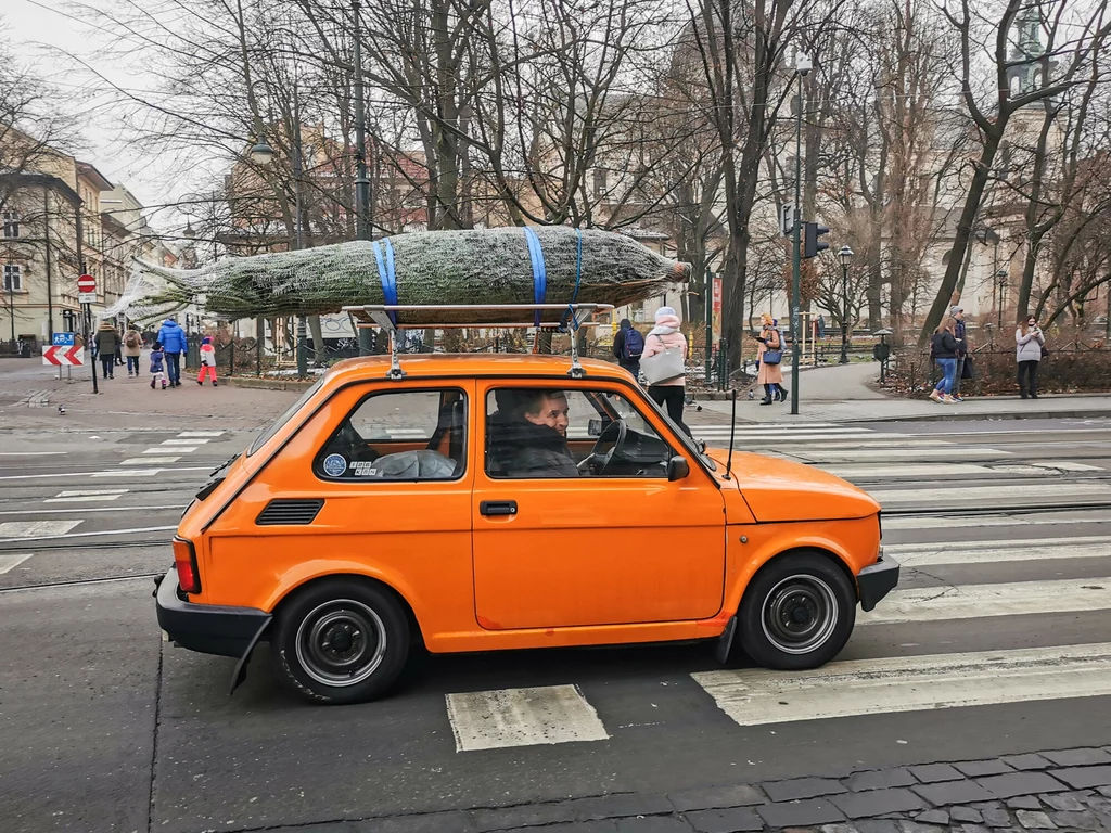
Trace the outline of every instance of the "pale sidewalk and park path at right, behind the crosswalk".
<instances>
[{"instance_id":1,"label":"pale sidewalk and park path at right, behind the crosswalk","mask_svg":"<svg viewBox=\"0 0 1111 833\"><path fill-rule=\"evenodd\" d=\"M991 420L1111 418L1111 394L1042 395L1038 400L1018 397L982 397L960 404L941 405L929 400L889 397L869 387L880 374L878 362L833 364L803 369L799 373L799 414L791 403L761 405L760 397L739 394L737 418L741 422L913 422L919 420ZM790 368L783 380L791 387ZM762 395L762 394L761 394ZM789 398L790 400L790 398ZM703 413L728 416L729 401L699 401Z\"/></svg>"}]
</instances>

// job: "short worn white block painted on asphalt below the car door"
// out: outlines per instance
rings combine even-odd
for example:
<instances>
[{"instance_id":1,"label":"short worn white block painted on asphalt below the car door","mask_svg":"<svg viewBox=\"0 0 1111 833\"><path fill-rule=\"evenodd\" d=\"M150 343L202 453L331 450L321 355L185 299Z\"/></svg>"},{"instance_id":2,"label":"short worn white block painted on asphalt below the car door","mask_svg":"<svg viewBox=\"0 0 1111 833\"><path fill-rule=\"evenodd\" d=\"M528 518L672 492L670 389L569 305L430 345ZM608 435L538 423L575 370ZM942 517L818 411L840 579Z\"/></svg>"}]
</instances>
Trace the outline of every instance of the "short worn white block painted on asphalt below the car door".
<instances>
[{"instance_id":1,"label":"short worn white block painted on asphalt below the car door","mask_svg":"<svg viewBox=\"0 0 1111 833\"><path fill-rule=\"evenodd\" d=\"M456 752L610 736L577 685L448 694L447 703Z\"/></svg>"}]
</instances>

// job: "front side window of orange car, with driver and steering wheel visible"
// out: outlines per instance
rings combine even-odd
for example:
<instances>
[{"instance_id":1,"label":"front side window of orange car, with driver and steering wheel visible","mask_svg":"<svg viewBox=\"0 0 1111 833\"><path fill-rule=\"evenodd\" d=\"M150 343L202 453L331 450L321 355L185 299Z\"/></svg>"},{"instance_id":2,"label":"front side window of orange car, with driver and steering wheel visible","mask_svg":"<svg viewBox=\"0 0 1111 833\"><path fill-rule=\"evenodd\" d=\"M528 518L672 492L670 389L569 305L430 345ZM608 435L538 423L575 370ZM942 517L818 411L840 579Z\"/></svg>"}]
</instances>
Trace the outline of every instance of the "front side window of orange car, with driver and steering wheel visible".
<instances>
[{"instance_id":1,"label":"front side window of orange car, with driver and steering wheel visible","mask_svg":"<svg viewBox=\"0 0 1111 833\"><path fill-rule=\"evenodd\" d=\"M491 478L665 478L671 449L625 397L601 389L487 394Z\"/></svg>"}]
</instances>

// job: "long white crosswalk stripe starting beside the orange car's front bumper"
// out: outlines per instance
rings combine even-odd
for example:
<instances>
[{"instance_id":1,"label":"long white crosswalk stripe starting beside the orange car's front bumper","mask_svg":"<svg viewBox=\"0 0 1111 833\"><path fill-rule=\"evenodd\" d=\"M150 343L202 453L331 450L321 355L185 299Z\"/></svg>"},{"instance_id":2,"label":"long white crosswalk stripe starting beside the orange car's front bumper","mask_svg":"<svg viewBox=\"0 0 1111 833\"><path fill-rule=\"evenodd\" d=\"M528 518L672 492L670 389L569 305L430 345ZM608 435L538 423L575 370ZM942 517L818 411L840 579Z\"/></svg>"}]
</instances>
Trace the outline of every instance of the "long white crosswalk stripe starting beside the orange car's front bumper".
<instances>
[{"instance_id":1,"label":"long white crosswalk stripe starting beside the orange car's front bumper","mask_svg":"<svg viewBox=\"0 0 1111 833\"><path fill-rule=\"evenodd\" d=\"M1111 610L1111 576L895 590L860 625Z\"/></svg>"}]
</instances>

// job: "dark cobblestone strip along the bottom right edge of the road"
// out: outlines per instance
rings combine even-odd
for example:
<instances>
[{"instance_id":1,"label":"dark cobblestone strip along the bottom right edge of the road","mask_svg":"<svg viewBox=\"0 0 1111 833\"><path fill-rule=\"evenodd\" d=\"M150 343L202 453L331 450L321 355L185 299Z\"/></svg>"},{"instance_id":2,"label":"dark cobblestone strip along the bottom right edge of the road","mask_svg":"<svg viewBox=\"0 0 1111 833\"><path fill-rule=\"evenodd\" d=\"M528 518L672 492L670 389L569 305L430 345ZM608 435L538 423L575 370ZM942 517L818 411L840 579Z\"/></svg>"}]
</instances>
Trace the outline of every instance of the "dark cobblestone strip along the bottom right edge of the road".
<instances>
[{"instance_id":1,"label":"dark cobblestone strip along the bottom right edge of the road","mask_svg":"<svg viewBox=\"0 0 1111 833\"><path fill-rule=\"evenodd\" d=\"M661 762L663 765L663 762ZM299 833L1111 831L1111 747L277 827Z\"/></svg>"}]
</instances>

